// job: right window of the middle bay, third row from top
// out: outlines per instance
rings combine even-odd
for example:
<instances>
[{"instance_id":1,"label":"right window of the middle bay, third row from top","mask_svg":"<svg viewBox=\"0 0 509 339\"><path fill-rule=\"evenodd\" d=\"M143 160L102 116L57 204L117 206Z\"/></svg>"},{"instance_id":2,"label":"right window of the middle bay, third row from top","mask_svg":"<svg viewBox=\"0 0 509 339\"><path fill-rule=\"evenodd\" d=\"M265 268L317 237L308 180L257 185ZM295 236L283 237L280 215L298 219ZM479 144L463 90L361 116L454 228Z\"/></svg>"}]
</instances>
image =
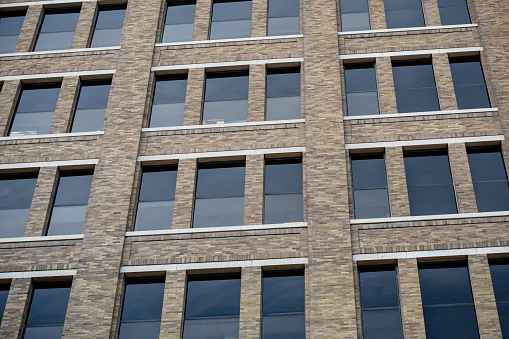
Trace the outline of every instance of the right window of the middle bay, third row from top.
<instances>
[{"instance_id":1,"label":"right window of the middle bay, third row from top","mask_svg":"<svg viewBox=\"0 0 509 339\"><path fill-rule=\"evenodd\" d=\"M264 194L265 224L304 221L302 159L266 160Z\"/></svg>"}]
</instances>

